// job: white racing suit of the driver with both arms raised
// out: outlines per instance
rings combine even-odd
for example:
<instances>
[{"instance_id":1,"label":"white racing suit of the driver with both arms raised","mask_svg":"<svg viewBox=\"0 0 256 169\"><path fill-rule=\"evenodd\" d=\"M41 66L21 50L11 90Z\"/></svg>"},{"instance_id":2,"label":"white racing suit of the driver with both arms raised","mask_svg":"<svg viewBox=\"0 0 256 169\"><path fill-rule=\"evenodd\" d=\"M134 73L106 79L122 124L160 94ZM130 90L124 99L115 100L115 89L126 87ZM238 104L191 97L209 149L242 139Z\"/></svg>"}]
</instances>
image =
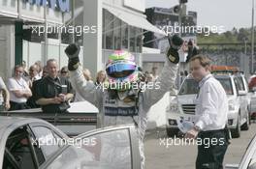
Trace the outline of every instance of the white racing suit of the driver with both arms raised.
<instances>
[{"instance_id":1,"label":"white racing suit of the driver with both arms raised","mask_svg":"<svg viewBox=\"0 0 256 169\"><path fill-rule=\"evenodd\" d=\"M135 124L138 126L138 138L141 154L141 168L144 169L144 131L146 129L146 114L149 108L162 99L164 94L175 87L177 65L171 63L168 59L160 73L159 89L145 89L139 93L137 107L135 102L124 102L120 99L111 99L108 90L97 88L91 83L87 83L82 68L70 71L70 80L73 88L80 96L96 107L98 107L101 118L101 127L110 127L115 125ZM155 112L157 113L157 112ZM116 156L117 158L118 156Z\"/></svg>"}]
</instances>

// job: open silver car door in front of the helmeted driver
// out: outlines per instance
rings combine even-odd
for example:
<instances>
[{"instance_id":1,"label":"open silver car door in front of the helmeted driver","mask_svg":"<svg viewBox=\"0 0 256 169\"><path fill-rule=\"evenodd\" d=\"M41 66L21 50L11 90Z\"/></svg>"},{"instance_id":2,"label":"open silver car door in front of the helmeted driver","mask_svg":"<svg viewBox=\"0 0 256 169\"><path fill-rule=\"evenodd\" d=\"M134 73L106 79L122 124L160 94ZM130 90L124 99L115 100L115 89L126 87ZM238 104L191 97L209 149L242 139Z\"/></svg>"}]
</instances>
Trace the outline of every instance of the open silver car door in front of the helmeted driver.
<instances>
[{"instance_id":1,"label":"open silver car door in front of the helmeted driver","mask_svg":"<svg viewBox=\"0 0 256 169\"><path fill-rule=\"evenodd\" d=\"M75 137L46 169L140 169L134 126L108 127Z\"/></svg>"}]
</instances>

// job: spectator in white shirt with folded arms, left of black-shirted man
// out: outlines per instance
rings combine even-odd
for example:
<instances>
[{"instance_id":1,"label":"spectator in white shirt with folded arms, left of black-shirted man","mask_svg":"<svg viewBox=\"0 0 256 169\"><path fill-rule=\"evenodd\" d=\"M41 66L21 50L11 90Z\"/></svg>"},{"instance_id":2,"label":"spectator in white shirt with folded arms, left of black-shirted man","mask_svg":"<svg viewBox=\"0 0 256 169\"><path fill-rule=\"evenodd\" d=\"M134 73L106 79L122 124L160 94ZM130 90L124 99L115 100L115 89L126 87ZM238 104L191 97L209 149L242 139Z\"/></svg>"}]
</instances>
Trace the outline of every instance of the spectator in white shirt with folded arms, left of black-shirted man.
<instances>
[{"instance_id":1,"label":"spectator in white shirt with folded arms, left of black-shirted man","mask_svg":"<svg viewBox=\"0 0 256 169\"><path fill-rule=\"evenodd\" d=\"M29 108L26 101L32 96L27 82L22 78L24 69L22 66L15 67L15 76L9 78L8 89L10 91L10 110L21 110Z\"/></svg>"}]
</instances>

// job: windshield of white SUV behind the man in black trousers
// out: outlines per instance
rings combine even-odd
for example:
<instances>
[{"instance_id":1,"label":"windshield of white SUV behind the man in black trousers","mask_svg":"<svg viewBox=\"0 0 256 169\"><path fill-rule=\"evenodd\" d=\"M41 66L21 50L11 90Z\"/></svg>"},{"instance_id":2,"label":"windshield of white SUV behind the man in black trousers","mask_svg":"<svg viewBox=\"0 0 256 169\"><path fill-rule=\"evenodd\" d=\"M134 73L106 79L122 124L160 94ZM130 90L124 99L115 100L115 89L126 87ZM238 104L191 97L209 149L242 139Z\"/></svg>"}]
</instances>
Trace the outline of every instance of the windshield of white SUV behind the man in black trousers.
<instances>
[{"instance_id":1,"label":"windshield of white SUV behind the man in black trousers","mask_svg":"<svg viewBox=\"0 0 256 169\"><path fill-rule=\"evenodd\" d=\"M198 82L193 78L186 78L182 83L178 95L198 94Z\"/></svg>"}]
</instances>

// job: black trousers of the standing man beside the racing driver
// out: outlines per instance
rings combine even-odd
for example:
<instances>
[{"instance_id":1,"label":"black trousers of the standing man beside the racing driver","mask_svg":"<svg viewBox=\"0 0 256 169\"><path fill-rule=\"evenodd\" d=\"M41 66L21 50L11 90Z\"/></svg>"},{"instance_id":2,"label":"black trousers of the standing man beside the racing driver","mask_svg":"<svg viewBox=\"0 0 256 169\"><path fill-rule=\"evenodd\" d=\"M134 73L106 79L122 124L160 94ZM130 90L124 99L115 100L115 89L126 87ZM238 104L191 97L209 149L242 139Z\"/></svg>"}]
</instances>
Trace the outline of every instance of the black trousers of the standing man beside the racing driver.
<instances>
[{"instance_id":1,"label":"black trousers of the standing man beside the racing driver","mask_svg":"<svg viewBox=\"0 0 256 169\"><path fill-rule=\"evenodd\" d=\"M202 144L198 144L196 169L223 169L229 144L226 129L201 131L197 139Z\"/></svg>"}]
</instances>

